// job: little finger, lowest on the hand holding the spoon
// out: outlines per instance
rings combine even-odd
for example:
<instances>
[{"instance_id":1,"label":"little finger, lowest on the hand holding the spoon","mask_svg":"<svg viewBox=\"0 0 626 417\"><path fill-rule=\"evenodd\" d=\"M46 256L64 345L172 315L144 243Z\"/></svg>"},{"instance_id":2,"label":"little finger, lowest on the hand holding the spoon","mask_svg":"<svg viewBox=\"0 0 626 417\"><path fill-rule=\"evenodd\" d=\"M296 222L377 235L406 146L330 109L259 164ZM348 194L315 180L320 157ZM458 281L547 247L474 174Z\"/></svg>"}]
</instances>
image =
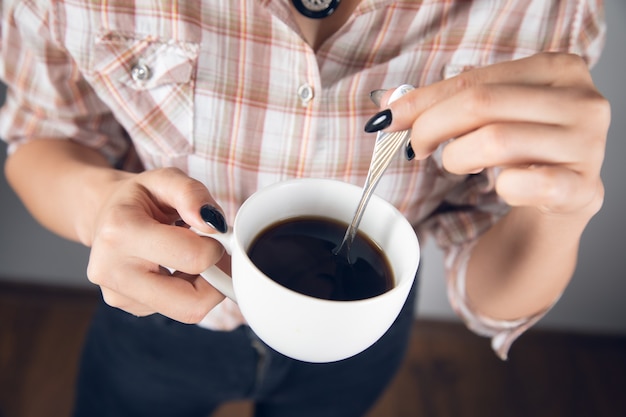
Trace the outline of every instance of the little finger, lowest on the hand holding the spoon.
<instances>
[{"instance_id":1,"label":"little finger, lowest on the hand holding the spoon","mask_svg":"<svg viewBox=\"0 0 626 417\"><path fill-rule=\"evenodd\" d=\"M559 166L504 169L496 180L497 193L511 206L537 207L546 213L569 213L590 203L595 184Z\"/></svg>"}]
</instances>

